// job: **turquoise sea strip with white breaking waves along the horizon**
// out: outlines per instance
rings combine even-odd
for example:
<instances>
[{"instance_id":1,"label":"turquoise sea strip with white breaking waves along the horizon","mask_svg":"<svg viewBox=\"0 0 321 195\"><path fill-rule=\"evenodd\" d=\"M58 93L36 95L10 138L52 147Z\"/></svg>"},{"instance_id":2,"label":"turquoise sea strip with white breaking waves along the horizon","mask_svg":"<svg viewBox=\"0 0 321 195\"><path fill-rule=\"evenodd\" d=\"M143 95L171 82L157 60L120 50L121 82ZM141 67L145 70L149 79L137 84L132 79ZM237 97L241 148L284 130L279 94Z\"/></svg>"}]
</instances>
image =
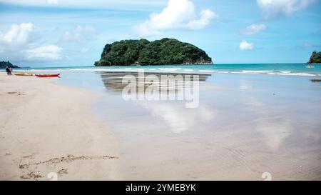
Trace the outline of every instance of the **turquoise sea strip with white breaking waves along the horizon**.
<instances>
[{"instance_id":1,"label":"turquoise sea strip with white breaking waves along the horizon","mask_svg":"<svg viewBox=\"0 0 321 195\"><path fill-rule=\"evenodd\" d=\"M288 76L321 76L321 64L215 64L215 65L166 65L166 66L70 66L26 68L21 71L157 71L157 72L204 72L223 74L271 74ZM18 71L18 70L16 70Z\"/></svg>"}]
</instances>

